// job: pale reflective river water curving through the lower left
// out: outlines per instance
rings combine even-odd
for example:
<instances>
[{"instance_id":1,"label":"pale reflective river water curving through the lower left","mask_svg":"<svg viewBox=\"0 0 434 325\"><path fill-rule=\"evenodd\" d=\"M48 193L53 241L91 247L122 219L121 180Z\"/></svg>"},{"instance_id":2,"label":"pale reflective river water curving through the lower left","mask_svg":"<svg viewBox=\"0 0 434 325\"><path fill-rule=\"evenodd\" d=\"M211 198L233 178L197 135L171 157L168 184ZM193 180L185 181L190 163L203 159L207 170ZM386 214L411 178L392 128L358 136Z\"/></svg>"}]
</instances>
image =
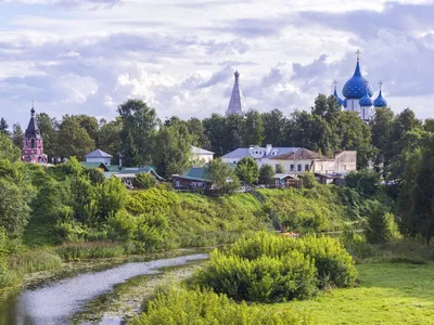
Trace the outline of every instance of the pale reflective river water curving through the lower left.
<instances>
[{"instance_id":1,"label":"pale reflective river water curving through the lower left","mask_svg":"<svg viewBox=\"0 0 434 325\"><path fill-rule=\"evenodd\" d=\"M5 301L0 300L1 325L63 325L82 310L86 302L108 292L129 278L158 273L165 266L180 266L207 259L196 253L150 262L129 262L105 271L84 273L23 291ZM122 324L122 320L104 320L101 324Z\"/></svg>"}]
</instances>

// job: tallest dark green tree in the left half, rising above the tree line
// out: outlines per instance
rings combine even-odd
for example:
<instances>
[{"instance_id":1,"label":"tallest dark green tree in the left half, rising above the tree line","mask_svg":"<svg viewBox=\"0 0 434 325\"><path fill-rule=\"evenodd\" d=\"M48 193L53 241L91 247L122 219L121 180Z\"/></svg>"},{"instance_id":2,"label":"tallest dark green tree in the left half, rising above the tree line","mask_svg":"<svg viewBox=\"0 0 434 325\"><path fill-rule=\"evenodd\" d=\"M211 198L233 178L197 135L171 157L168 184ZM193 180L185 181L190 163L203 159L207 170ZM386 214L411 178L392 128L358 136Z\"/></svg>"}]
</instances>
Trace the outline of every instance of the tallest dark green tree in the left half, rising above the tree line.
<instances>
[{"instance_id":1,"label":"tallest dark green tree in the left half, rising above the tree line","mask_svg":"<svg viewBox=\"0 0 434 325\"><path fill-rule=\"evenodd\" d=\"M117 107L117 112L123 126L120 143L125 166L149 165L159 122L155 109L141 100L128 100Z\"/></svg>"}]
</instances>

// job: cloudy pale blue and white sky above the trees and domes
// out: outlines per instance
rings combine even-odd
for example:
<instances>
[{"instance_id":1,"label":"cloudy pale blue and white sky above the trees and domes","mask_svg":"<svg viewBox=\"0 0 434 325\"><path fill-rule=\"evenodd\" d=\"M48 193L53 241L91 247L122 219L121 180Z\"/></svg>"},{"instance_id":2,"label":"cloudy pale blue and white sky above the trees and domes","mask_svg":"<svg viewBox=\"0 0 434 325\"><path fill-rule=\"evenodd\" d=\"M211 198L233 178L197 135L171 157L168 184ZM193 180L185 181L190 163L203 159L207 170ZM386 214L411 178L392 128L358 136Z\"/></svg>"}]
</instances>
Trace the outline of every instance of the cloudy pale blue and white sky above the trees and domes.
<instances>
[{"instance_id":1,"label":"cloudy pale blue and white sky above the trees and domes","mask_svg":"<svg viewBox=\"0 0 434 325\"><path fill-rule=\"evenodd\" d=\"M164 119L224 114L240 72L247 108L310 109L363 76L396 113L434 117L434 2L0 0L0 117L113 119L141 99ZM376 95L376 93L375 93Z\"/></svg>"}]
</instances>

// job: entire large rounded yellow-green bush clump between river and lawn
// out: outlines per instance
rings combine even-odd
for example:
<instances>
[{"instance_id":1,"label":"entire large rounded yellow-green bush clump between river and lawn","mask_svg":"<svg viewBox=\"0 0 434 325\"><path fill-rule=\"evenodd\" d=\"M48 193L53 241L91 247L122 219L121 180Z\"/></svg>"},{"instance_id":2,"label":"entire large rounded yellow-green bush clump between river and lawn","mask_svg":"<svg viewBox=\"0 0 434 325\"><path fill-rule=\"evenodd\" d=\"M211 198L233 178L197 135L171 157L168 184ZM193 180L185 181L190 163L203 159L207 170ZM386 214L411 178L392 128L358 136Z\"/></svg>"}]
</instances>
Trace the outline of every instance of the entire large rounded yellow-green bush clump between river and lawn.
<instances>
[{"instance_id":1,"label":"entire large rounded yellow-green bush clump between river and lawn","mask_svg":"<svg viewBox=\"0 0 434 325\"><path fill-rule=\"evenodd\" d=\"M329 285L353 286L356 278L354 261L336 239L256 233L214 251L195 282L237 300L276 302L306 299Z\"/></svg>"}]
</instances>

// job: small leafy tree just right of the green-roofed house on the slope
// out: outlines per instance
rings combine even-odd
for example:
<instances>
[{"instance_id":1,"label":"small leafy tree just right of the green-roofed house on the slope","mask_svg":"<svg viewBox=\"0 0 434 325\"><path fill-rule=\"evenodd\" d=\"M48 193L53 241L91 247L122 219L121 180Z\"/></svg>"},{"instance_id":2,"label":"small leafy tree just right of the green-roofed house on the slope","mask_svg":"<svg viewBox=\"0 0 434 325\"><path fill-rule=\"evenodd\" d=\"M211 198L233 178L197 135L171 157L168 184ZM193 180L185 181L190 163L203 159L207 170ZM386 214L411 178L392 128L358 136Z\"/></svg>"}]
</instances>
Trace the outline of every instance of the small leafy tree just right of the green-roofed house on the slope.
<instances>
[{"instance_id":1,"label":"small leafy tree just right of the green-roofed house on the slope","mask_svg":"<svg viewBox=\"0 0 434 325\"><path fill-rule=\"evenodd\" d=\"M221 194L232 194L240 188L240 182L233 169L220 158L210 160L205 167L205 173Z\"/></svg>"}]
</instances>

